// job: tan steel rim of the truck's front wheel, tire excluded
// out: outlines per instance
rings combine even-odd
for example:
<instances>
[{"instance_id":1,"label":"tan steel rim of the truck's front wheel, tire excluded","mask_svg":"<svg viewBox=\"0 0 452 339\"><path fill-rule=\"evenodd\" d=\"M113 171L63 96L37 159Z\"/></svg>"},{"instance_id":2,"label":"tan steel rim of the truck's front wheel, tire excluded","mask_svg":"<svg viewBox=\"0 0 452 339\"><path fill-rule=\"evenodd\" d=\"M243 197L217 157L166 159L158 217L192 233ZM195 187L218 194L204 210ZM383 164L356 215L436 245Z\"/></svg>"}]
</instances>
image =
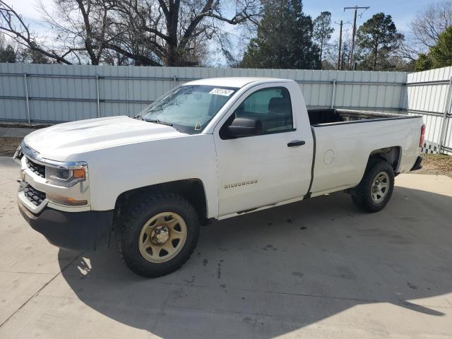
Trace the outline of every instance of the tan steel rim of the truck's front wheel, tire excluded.
<instances>
[{"instance_id":1,"label":"tan steel rim of the truck's front wheel, tire excluded","mask_svg":"<svg viewBox=\"0 0 452 339\"><path fill-rule=\"evenodd\" d=\"M176 256L186 241L186 223L174 212L162 212L141 228L138 249L151 263L165 263Z\"/></svg>"}]
</instances>

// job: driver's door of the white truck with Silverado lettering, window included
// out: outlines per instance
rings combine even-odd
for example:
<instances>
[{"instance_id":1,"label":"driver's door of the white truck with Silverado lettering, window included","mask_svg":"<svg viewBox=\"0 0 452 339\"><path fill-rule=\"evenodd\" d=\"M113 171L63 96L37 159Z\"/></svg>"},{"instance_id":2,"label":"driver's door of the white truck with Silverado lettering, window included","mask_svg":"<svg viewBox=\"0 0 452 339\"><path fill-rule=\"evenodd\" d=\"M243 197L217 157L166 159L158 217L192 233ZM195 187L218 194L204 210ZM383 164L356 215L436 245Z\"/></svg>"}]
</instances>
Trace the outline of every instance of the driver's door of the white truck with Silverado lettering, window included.
<instances>
[{"instance_id":1,"label":"driver's door of the white truck with Silverado lettering, window included","mask_svg":"<svg viewBox=\"0 0 452 339\"><path fill-rule=\"evenodd\" d=\"M310 147L294 123L290 91L283 85L258 85L233 105L214 131L218 161L219 215L302 198L310 182ZM263 133L230 138L236 117L261 119Z\"/></svg>"}]
</instances>

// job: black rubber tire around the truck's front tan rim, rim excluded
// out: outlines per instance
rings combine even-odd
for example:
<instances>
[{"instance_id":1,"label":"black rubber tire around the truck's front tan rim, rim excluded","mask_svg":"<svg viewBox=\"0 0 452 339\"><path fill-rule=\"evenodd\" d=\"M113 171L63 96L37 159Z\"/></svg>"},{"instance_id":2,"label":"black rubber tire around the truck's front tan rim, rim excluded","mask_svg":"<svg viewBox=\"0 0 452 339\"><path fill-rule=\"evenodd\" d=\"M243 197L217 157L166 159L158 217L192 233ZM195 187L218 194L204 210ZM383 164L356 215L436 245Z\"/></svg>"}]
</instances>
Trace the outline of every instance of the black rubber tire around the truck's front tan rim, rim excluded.
<instances>
[{"instance_id":1,"label":"black rubber tire around the truck's front tan rim, rim excluded","mask_svg":"<svg viewBox=\"0 0 452 339\"><path fill-rule=\"evenodd\" d=\"M189 260L199 237L200 222L196 210L191 204L177 194L156 194L141 201L136 201L123 218L119 234L119 254L126 266L134 273L145 278L155 278L167 275L180 268ZM138 238L143 225L158 213L171 211L183 218L186 224L186 240L182 249L174 258L163 263L152 263L140 253Z\"/></svg>"}]
</instances>

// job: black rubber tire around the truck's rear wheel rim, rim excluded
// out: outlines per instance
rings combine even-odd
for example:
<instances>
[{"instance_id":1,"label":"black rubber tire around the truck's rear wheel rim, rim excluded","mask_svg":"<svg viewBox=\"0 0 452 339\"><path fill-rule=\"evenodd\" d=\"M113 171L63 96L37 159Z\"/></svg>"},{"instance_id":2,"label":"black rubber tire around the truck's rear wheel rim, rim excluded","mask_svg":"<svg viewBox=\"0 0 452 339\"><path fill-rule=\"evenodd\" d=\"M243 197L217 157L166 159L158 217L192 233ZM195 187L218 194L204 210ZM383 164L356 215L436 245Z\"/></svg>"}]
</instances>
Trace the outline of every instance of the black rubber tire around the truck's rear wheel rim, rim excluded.
<instances>
[{"instance_id":1,"label":"black rubber tire around the truck's rear wheel rim, rim excluded","mask_svg":"<svg viewBox=\"0 0 452 339\"><path fill-rule=\"evenodd\" d=\"M372 189L374 179L376 179L381 172L384 172L388 176L388 188L384 192L384 196L381 201L375 201L372 198ZM388 203L394 189L394 170L393 167L386 162L386 160L381 159L371 159L364 172L364 176L359 182L358 186L352 189L352 201L355 206L364 212L374 213L382 210L386 203Z\"/></svg>"}]
</instances>

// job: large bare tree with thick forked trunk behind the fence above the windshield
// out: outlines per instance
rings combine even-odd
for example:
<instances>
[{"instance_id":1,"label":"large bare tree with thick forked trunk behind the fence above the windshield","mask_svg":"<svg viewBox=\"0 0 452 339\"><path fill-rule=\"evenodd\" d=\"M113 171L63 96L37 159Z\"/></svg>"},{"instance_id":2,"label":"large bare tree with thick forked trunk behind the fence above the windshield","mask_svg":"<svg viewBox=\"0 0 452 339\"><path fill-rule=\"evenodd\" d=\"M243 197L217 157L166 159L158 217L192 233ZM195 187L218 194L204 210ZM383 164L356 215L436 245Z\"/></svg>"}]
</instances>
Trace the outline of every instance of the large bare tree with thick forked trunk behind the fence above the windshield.
<instances>
[{"instance_id":1,"label":"large bare tree with thick forked trunk behind the fence above the windshield","mask_svg":"<svg viewBox=\"0 0 452 339\"><path fill-rule=\"evenodd\" d=\"M206 49L208 40L221 37L219 22L257 22L260 1L237 0L236 7L234 15L227 18L219 0L119 0L114 27L117 36L108 47L144 64L198 64L194 53ZM150 54L133 50L136 44L145 46L143 52Z\"/></svg>"}]
</instances>

